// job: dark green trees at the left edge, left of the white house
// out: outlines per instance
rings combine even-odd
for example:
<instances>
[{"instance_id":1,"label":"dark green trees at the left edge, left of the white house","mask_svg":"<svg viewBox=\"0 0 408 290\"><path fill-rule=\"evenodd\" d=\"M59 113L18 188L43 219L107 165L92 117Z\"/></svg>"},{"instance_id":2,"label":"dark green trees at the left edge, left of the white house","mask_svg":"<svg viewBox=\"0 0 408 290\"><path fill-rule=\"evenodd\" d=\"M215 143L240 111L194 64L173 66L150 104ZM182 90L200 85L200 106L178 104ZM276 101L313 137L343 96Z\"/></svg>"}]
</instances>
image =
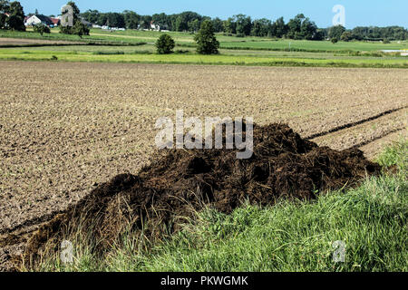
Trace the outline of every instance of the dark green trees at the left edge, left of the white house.
<instances>
[{"instance_id":1,"label":"dark green trees at the left edge, left of the white house","mask_svg":"<svg viewBox=\"0 0 408 290\"><path fill-rule=\"evenodd\" d=\"M0 0L0 29L25 31L24 9L20 2Z\"/></svg>"}]
</instances>

